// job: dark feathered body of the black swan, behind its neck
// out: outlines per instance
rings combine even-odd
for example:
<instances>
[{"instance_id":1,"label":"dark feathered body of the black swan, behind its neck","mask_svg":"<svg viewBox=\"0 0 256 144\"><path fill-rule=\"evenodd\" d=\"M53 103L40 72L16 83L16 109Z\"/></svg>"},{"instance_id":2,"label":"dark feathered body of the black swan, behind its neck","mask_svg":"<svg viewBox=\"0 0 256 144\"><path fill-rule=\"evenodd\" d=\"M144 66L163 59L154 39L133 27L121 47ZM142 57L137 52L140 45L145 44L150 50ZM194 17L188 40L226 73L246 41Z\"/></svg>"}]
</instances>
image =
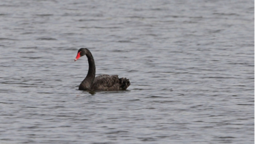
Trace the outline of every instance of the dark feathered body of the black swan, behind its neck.
<instances>
[{"instance_id":1,"label":"dark feathered body of the black swan, behind its neck","mask_svg":"<svg viewBox=\"0 0 256 144\"><path fill-rule=\"evenodd\" d=\"M100 75L94 79L91 85L93 91L120 91L126 90L130 86L127 78L119 78L117 75Z\"/></svg>"}]
</instances>

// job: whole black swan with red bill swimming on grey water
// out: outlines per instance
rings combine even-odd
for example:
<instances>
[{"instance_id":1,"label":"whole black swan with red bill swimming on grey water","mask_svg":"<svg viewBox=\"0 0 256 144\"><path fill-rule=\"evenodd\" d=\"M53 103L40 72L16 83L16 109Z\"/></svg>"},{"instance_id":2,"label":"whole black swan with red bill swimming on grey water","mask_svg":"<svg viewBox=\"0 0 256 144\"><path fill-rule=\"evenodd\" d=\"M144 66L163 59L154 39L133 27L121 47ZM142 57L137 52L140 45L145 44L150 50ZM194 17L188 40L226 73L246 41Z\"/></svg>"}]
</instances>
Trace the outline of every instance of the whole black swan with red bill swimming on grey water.
<instances>
[{"instance_id":1,"label":"whole black swan with red bill swimming on grey water","mask_svg":"<svg viewBox=\"0 0 256 144\"><path fill-rule=\"evenodd\" d=\"M79 90L85 91L121 91L126 90L130 86L130 81L127 78L118 78L117 75L100 75L96 76L96 66L94 62L94 57L87 48L80 48L76 59L77 61L80 57L84 55L88 58L89 70L85 77L85 80L80 84ZM96 76L96 77L95 77Z\"/></svg>"}]
</instances>

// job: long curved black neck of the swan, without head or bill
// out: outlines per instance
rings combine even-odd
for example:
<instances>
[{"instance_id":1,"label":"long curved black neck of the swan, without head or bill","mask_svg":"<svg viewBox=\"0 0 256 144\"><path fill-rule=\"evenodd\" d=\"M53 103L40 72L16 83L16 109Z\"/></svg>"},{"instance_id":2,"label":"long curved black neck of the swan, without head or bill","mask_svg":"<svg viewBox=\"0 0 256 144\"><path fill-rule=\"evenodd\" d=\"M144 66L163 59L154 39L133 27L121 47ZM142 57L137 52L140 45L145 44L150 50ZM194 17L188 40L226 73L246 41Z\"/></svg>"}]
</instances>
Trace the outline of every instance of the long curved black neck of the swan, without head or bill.
<instances>
[{"instance_id":1,"label":"long curved black neck of the swan, without head or bill","mask_svg":"<svg viewBox=\"0 0 256 144\"><path fill-rule=\"evenodd\" d=\"M87 76L85 77L85 80L81 83L79 89L83 90L89 90L91 88L91 85L94 83L94 78L96 76L96 66L94 62L94 57L91 55L91 53L87 52L87 58L89 63L89 70L87 73Z\"/></svg>"}]
</instances>

